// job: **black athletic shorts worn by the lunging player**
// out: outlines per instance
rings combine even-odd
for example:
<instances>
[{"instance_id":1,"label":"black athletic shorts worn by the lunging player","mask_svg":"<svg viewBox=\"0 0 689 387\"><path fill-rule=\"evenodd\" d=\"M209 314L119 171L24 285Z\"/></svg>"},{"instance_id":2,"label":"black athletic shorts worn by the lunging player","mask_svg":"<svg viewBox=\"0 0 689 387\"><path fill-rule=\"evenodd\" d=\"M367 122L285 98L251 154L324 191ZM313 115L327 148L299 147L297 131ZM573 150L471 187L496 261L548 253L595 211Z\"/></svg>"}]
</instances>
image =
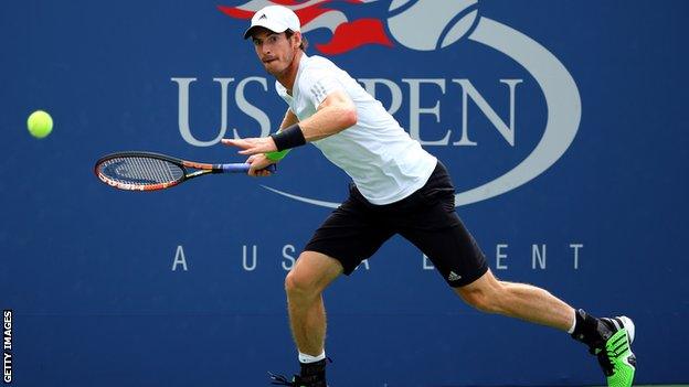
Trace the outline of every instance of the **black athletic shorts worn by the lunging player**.
<instances>
[{"instance_id":1,"label":"black athletic shorts worn by the lunging player","mask_svg":"<svg viewBox=\"0 0 689 387\"><path fill-rule=\"evenodd\" d=\"M455 212L455 187L439 161L423 187L395 203L371 204L350 184L347 201L304 249L339 260L349 276L395 234L425 254L451 287L469 284L488 270L484 252Z\"/></svg>"}]
</instances>

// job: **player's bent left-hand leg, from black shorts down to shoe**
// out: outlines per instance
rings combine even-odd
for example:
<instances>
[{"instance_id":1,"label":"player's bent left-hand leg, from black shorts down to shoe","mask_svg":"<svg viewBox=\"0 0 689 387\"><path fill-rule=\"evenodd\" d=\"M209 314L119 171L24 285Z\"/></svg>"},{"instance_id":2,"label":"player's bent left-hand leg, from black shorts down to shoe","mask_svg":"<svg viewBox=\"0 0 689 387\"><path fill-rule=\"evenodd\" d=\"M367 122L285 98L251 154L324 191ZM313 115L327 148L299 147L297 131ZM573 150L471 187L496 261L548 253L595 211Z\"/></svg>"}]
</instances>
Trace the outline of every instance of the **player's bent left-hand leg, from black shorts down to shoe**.
<instances>
[{"instance_id":1,"label":"player's bent left-hand leg, from black shorts down to shoe","mask_svg":"<svg viewBox=\"0 0 689 387\"><path fill-rule=\"evenodd\" d=\"M326 386L326 310L321 293L340 275L351 275L394 234L353 185L349 194L314 232L285 279L289 324L301 368L294 379L298 383L290 386Z\"/></svg>"}]
</instances>

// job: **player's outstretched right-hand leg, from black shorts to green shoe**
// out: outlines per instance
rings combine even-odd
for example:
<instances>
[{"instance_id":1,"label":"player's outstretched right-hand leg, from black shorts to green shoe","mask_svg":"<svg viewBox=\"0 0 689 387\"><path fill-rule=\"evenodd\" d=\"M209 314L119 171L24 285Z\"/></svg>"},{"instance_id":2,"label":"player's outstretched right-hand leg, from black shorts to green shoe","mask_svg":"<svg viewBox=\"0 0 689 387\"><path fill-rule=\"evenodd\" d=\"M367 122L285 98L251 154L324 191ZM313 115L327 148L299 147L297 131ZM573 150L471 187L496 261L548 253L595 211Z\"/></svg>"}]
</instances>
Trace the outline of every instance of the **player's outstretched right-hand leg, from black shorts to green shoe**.
<instances>
[{"instance_id":1,"label":"player's outstretched right-hand leg, from black shorts to green shoe","mask_svg":"<svg viewBox=\"0 0 689 387\"><path fill-rule=\"evenodd\" d=\"M399 233L422 250L459 297L475 308L566 331L598 357L608 385L627 387L636 358L627 318L596 319L543 289L498 281L484 252L455 212L454 186L438 163L428 182L401 208Z\"/></svg>"}]
</instances>

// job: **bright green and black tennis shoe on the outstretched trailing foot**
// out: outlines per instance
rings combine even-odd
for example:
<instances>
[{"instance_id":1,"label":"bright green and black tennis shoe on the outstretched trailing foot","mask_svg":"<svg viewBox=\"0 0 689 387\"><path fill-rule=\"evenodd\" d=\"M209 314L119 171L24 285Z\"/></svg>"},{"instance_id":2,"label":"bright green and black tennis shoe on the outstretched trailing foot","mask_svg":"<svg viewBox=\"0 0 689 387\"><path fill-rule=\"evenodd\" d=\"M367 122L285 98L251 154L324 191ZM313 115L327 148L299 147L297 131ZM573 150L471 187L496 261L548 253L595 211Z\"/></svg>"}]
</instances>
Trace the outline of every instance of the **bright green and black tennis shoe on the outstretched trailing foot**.
<instances>
[{"instance_id":1,"label":"bright green and black tennis shoe on the outstretched trailing foot","mask_svg":"<svg viewBox=\"0 0 689 387\"><path fill-rule=\"evenodd\" d=\"M607 378L608 387L630 387L636 372L636 356L632 352L635 327L627 316L600 319L612 335L605 340L605 345L592 348L598 357L598 364Z\"/></svg>"}]
</instances>

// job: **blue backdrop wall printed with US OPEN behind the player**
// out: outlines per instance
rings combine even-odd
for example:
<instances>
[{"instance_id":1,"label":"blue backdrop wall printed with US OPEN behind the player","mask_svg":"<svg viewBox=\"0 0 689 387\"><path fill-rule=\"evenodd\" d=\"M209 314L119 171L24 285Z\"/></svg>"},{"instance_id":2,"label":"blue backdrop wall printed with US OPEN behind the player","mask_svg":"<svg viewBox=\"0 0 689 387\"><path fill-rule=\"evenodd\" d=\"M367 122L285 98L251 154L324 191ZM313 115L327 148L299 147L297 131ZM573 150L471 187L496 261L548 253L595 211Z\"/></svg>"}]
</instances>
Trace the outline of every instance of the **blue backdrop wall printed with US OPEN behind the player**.
<instances>
[{"instance_id":1,"label":"blue backdrop wall printed with US OPEN behind the player","mask_svg":"<svg viewBox=\"0 0 689 387\"><path fill-rule=\"evenodd\" d=\"M314 147L269 179L149 194L92 170L118 150L242 161L223 132L277 128L285 106L241 39L259 1L219 1L0 11L14 385L263 386L296 369L283 280L346 174ZM280 2L309 54L448 165L497 276L634 318L638 381L689 381L686 1ZM39 108L55 121L43 140L25 130ZM583 346L474 311L399 237L325 297L335 386L603 384Z\"/></svg>"}]
</instances>

